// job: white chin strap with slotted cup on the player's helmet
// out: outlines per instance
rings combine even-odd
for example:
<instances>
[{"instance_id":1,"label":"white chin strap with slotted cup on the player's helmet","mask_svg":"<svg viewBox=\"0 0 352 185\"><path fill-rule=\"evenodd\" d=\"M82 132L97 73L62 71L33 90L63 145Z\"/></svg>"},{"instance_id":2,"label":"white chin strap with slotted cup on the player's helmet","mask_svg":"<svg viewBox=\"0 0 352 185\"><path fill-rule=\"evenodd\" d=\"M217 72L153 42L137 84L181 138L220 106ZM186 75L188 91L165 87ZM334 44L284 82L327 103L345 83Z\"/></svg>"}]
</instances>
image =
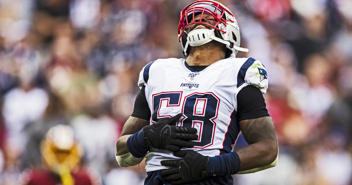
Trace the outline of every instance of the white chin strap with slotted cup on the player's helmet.
<instances>
[{"instance_id":1,"label":"white chin strap with slotted cup on the player's helmet","mask_svg":"<svg viewBox=\"0 0 352 185\"><path fill-rule=\"evenodd\" d=\"M209 29L195 29L195 30L190 31L187 35L187 42L184 46L183 52L186 54L188 45L200 46L200 45L206 44L212 40L221 42L221 43L225 44L228 49L232 50L231 57L234 57L235 50L244 51L244 52L249 51L247 48L241 48L241 47L238 47L235 45L233 46L233 48L230 48L230 45L231 45L230 42L224 41L221 38L215 37L214 30L215 29L211 29L211 30L209 30Z\"/></svg>"}]
</instances>

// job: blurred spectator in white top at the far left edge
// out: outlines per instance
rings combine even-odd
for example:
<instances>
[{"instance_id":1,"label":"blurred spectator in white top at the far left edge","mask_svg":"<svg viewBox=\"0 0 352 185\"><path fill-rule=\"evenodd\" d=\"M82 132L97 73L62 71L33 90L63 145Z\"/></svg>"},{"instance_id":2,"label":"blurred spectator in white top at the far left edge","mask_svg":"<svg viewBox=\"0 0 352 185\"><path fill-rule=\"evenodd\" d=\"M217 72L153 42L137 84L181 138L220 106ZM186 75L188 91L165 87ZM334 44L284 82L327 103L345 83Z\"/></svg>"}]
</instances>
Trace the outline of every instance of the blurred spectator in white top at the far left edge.
<instances>
[{"instance_id":1,"label":"blurred spectator in white top at the far left edge","mask_svg":"<svg viewBox=\"0 0 352 185\"><path fill-rule=\"evenodd\" d=\"M22 66L21 86L13 88L4 96L2 109L7 128L7 146L23 152L28 139L26 127L37 121L48 106L48 93L33 86L33 74L25 64ZM34 72L35 73L35 72Z\"/></svg>"}]
</instances>

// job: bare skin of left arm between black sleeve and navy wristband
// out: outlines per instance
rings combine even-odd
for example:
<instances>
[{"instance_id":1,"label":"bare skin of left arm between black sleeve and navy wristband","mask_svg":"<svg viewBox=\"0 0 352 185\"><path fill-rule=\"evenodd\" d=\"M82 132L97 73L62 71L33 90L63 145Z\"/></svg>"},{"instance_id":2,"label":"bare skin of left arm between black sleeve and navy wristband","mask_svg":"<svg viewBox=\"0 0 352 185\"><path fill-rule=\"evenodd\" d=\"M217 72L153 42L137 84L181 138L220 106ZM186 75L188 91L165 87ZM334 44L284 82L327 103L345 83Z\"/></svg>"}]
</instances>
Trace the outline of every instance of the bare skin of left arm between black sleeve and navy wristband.
<instances>
[{"instance_id":1,"label":"bare skin of left arm between black sleeve and navy wristband","mask_svg":"<svg viewBox=\"0 0 352 185\"><path fill-rule=\"evenodd\" d=\"M124 127L122 128L121 136L116 143L115 155L123 155L128 153L126 145L128 137L130 137L132 134L138 132L143 127L149 124L150 122L148 120L130 116L130 118L127 119Z\"/></svg>"}]
</instances>

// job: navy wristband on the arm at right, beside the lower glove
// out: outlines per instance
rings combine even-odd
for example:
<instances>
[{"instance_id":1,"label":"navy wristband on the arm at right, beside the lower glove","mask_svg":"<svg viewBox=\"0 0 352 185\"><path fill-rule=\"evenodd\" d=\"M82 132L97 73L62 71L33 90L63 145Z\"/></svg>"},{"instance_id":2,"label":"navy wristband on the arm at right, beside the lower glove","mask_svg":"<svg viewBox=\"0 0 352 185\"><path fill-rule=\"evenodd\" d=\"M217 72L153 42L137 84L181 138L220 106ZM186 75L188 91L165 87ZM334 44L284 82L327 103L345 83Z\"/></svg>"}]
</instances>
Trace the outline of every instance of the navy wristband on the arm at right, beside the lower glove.
<instances>
[{"instance_id":1,"label":"navy wristband on the arm at right, beside the lower glove","mask_svg":"<svg viewBox=\"0 0 352 185\"><path fill-rule=\"evenodd\" d=\"M240 158L236 152L209 157L208 175L233 175L240 169Z\"/></svg>"}]
</instances>

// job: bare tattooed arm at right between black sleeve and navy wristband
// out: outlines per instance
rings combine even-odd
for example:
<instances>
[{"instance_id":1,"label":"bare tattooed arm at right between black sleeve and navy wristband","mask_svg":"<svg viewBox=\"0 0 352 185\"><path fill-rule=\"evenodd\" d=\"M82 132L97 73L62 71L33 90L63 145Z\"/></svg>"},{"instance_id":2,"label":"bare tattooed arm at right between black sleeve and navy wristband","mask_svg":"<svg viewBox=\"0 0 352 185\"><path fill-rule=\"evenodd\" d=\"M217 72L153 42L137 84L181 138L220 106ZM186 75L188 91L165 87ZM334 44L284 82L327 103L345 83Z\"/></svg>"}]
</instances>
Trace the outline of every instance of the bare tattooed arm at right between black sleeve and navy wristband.
<instances>
[{"instance_id":1,"label":"bare tattooed arm at right between black sleeve and navy wristband","mask_svg":"<svg viewBox=\"0 0 352 185\"><path fill-rule=\"evenodd\" d=\"M239 122L249 146L238 149L240 171L270 165L277 157L278 145L272 119L261 117Z\"/></svg>"}]
</instances>

